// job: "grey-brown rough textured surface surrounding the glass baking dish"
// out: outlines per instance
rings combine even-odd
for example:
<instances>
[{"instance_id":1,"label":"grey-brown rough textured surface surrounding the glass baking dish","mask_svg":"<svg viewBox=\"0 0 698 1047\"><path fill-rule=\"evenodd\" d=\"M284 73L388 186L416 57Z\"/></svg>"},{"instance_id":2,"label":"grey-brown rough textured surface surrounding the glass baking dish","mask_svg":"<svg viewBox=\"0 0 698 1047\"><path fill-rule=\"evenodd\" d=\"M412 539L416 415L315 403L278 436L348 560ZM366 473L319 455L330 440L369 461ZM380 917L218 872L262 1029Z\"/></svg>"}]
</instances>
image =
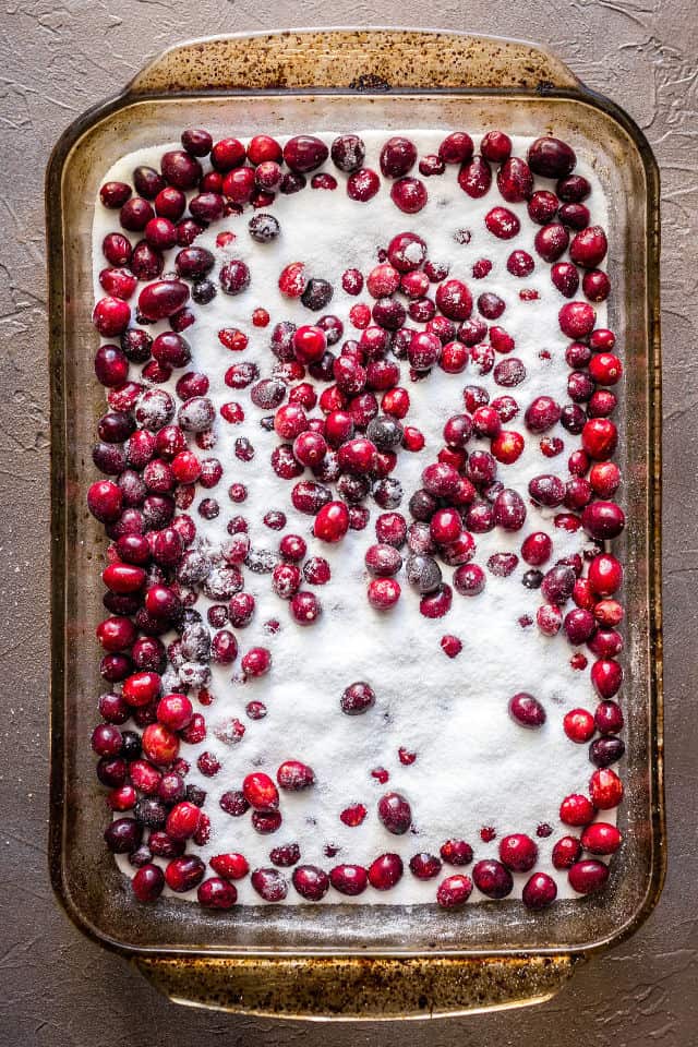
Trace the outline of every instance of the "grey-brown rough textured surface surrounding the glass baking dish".
<instances>
[{"instance_id":1,"label":"grey-brown rough textured surface surrounding the glass baking dish","mask_svg":"<svg viewBox=\"0 0 698 1047\"><path fill-rule=\"evenodd\" d=\"M174 1008L58 910L46 872L48 401L43 178L83 109L188 36L278 25L410 24L549 43L643 128L663 177L665 606L670 871L645 928L588 964L549 1004L412 1025L417 1044L667 1045L696 1042L695 876L698 571L698 19L693 0L16 0L0 28L0 1045L144 1047L322 1044L327 1031ZM145 50L144 50L144 41ZM691 428L693 426L693 428ZM404 1026L337 1026L332 1043L393 1045Z\"/></svg>"}]
</instances>

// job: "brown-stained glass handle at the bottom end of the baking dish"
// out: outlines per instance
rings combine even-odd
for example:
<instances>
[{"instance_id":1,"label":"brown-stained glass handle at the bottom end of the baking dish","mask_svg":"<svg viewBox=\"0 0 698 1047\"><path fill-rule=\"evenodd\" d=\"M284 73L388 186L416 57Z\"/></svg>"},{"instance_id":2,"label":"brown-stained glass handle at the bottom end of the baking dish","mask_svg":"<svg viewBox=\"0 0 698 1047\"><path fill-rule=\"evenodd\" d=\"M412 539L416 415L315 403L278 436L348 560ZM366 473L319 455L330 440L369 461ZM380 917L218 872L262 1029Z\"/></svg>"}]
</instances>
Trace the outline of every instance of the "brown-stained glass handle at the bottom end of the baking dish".
<instances>
[{"instance_id":1,"label":"brown-stained glass handle at the bottom end of the baking dish","mask_svg":"<svg viewBox=\"0 0 698 1047\"><path fill-rule=\"evenodd\" d=\"M457 1016L550 999L580 955L137 959L178 1003L274 1018L385 1021Z\"/></svg>"}]
</instances>

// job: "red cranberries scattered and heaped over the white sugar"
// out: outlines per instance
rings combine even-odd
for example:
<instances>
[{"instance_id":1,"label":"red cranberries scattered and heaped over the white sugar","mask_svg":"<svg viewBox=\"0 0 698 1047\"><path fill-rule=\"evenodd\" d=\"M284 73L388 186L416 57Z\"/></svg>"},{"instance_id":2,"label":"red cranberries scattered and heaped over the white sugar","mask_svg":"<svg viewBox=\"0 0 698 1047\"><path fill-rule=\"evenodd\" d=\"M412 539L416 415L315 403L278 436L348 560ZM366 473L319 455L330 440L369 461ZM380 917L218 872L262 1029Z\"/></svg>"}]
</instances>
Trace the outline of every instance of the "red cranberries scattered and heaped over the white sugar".
<instances>
[{"instance_id":1,"label":"red cranberries scattered and heaped over the white sugar","mask_svg":"<svg viewBox=\"0 0 698 1047\"><path fill-rule=\"evenodd\" d=\"M282 234L279 220L268 213L277 193L301 192L309 182L311 190L333 192L344 181L348 196L362 204L382 191L383 182L377 171L364 167L365 146L356 134L340 135L330 147L312 135L298 135L284 146L257 135L245 147L237 139L214 143L207 132L189 130L181 144L181 149L163 154L159 171L136 168L133 186L112 181L100 190L101 204L118 210L121 227L101 245L109 263L98 277L106 297L94 310L99 334L115 339L101 345L95 358L109 410L98 422L93 458L107 479L93 483L87 495L89 510L111 541L103 573L109 616L99 624L97 638L105 651L101 675L115 689L100 698L104 722L92 739L99 756L97 777L109 790L108 805L123 816L109 825L107 845L128 855L136 868L133 890L141 901L153 901L167 884L176 892L197 888L206 907L236 903L233 881L250 871L246 858L238 853L216 855L209 863L216 875L205 879L203 861L186 853L190 841L197 846L208 841L210 822L203 809L205 793L186 783L190 766L180 756L180 744L203 743L206 719L195 703L205 708L214 700L210 666L231 666L238 659L239 631L255 613L245 573L268 576L272 591L288 604L291 621L312 626L323 614L314 589L330 582L332 569L324 556L308 555L309 540L332 546L350 531L365 529L371 517L366 503L372 500L383 512L375 519L376 542L364 555L371 607L389 613L396 606L402 597L401 576L417 594L417 613L441 618L448 615L454 599L478 598L485 590L486 571L508 577L520 558L528 568L522 585L540 590L542 598L535 615L540 633L552 637L562 630L577 649L575 669L588 667L582 646L593 655L589 672L600 703L593 712L581 708L568 712L563 725L573 743L589 743L595 770L588 796L569 795L562 802L562 825L582 832L579 838L561 837L552 862L556 869L568 870L575 891L597 890L609 875L599 856L613 854L621 844L618 830L597 818L615 808L623 795L621 780L611 770L624 753L618 736L623 714L615 700L623 681L617 661L623 648L618 631L623 609L617 600L623 568L604 547L625 526L623 510L613 501L621 472L611 460L618 438L611 420L617 402L612 388L623 368L614 352L613 332L597 326L593 305L611 289L599 268L607 243L604 230L590 224L585 201L591 186L574 173L574 151L556 139L538 139L524 159L512 156L506 134L492 131L482 139L478 155L465 132L447 135L437 154L421 158L402 136L390 137L380 154L390 200L407 215L426 205L424 180L443 177L454 166L466 196L478 200L492 190L504 204L526 204L540 228L532 243L512 250L506 268L526 279L541 264L550 266L552 285L568 300L558 312L559 330L570 339L567 404L545 395L530 402L522 401L520 393L515 396L527 370L515 353L515 339L500 324L506 302L488 291L474 297L473 284L452 277L447 266L433 262L429 244L416 231L393 237L365 273L344 272L345 296L360 299L366 292L365 301L357 300L348 310L347 321L324 313L339 288L313 274L304 262L280 268L281 296L289 302L299 300L311 322L298 325L274 317L267 374L244 359L225 370L226 386L264 412L260 424L279 441L270 469L279 479L292 481L290 505L312 518L310 533L303 537L286 529L284 509L270 509L265 526L284 533L275 551L264 551L253 546L242 515L228 520L225 542L213 545L205 540L205 522L221 512L214 494L197 503L203 524L185 512L202 489L214 491L219 485L224 464L201 453L215 447L221 423L245 422L246 405L231 400L216 407L208 395L209 377L186 370L195 361L183 333L219 293L249 294L254 278L252 267L234 256L237 233L218 233L218 254L195 241L216 222L252 207L246 236L264 250ZM327 161L347 177L321 171ZM421 179L410 173L416 165ZM537 188L537 177L547 180L546 185L555 180L555 192ZM508 241L519 236L521 226L504 204L486 213L484 227L497 240ZM130 233L141 239L133 243ZM470 236L464 229L456 239L467 243ZM479 260L472 281L486 278L491 269L491 260ZM580 287L583 299L575 298ZM534 301L537 294L522 287L519 298ZM132 308L134 296L137 304ZM323 315L316 318L313 313ZM251 311L252 327L266 328L272 320L262 305ZM161 328L163 322L168 329L148 332L153 325ZM347 338L346 323L351 327ZM243 354L249 334L221 327L218 341L227 352ZM428 380L434 369L454 376L468 370L473 377L492 374L504 392L491 399L483 385L467 384L462 409L443 425L443 446L426 447L424 434L409 424L411 402L407 383L400 384L402 364L410 383ZM521 492L512 469L514 479L507 485L507 471L527 443L538 441L544 459L563 453L561 430L578 438L567 459L569 479L541 471ZM408 519L400 512L406 492L394 473L401 455L422 450L426 464L421 486L407 492ZM238 437L237 460L250 462L254 455L249 436ZM227 494L233 505L243 506L246 488L234 482ZM530 531L522 537L520 557L502 552L484 565L476 563L473 535L496 529L524 531L530 506L554 510L553 526L562 532L583 529L591 540L585 555L554 561L551 537ZM453 568L449 581L444 580L446 568ZM205 614L196 610L200 599L200 606L208 603ZM520 624L530 627L532 621ZM279 628L277 619L266 623L269 636ZM441 648L453 659L462 642L448 634ZM269 648L251 647L240 657L237 679L263 676L272 667ZM354 683L341 696L341 712L362 714L374 701L369 684ZM251 722L266 713L258 700L250 701L245 711ZM509 713L526 729L540 729L546 720L541 701L524 693L510 699ZM217 737L237 745L246 730L232 719L218 729ZM409 766L416 754L402 748L399 759ZM197 768L213 779L220 762L202 751ZM372 773L387 781L383 769ZM282 819L279 789L311 789L314 782L309 766L289 759L278 767L277 784L263 771L251 773L239 790L222 793L219 804L232 817L251 811L254 829L273 833ZM376 810L388 833L401 835L412 827L410 803L398 792L385 793ZM359 827L365 817L366 807L359 803L340 815L351 827ZM538 834L551 831L540 826ZM494 835L492 827L483 827L483 840ZM593 857L585 857L585 852ZM330 886L357 895L369 886L388 890L404 875L402 859L394 853L380 855L368 868L341 864L329 872L300 865L300 858L297 845L273 849L274 867L255 868L252 887L265 901L279 901L289 887L279 867L293 866L294 890L303 899L320 901ZM542 908L554 900L556 884L544 871L533 871L538 858L531 837L506 835L498 845L498 861L477 862L472 879L461 872L447 876L438 884L436 901L446 907L459 905L473 883L488 898L504 898L514 888L513 872L531 872L522 888L524 902ZM164 869L154 859L164 859ZM472 859L470 845L454 839L443 844L438 856L416 854L409 869L418 879L431 879L440 876L443 864L464 866Z\"/></svg>"}]
</instances>

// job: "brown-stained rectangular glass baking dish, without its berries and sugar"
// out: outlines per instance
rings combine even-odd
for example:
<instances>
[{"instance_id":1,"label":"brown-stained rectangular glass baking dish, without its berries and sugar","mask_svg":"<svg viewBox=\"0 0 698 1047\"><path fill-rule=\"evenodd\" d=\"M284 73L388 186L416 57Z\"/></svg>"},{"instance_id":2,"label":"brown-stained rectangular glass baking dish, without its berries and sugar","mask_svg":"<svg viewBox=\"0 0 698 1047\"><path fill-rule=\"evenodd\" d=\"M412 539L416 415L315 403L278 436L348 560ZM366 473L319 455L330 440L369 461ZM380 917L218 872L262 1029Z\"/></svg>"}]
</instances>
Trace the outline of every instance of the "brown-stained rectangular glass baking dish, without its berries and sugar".
<instances>
[{"instance_id":1,"label":"brown-stained rectangular glass baking dish, without its berries and sugar","mask_svg":"<svg viewBox=\"0 0 698 1047\"><path fill-rule=\"evenodd\" d=\"M627 801L610 889L543 914L467 906L238 907L209 914L132 902L103 845L88 745L100 689L94 627L104 539L85 506L103 411L91 324L93 201L123 153L179 136L260 130L497 127L554 131L597 156L610 203L611 326L623 347ZM631 934L664 871L660 593L659 180L641 132L556 58L518 41L410 31L233 36L166 52L85 113L47 173L52 396L50 867L86 934L131 958L172 999L226 1010L345 1019L429 1016L534 1002L575 964Z\"/></svg>"}]
</instances>

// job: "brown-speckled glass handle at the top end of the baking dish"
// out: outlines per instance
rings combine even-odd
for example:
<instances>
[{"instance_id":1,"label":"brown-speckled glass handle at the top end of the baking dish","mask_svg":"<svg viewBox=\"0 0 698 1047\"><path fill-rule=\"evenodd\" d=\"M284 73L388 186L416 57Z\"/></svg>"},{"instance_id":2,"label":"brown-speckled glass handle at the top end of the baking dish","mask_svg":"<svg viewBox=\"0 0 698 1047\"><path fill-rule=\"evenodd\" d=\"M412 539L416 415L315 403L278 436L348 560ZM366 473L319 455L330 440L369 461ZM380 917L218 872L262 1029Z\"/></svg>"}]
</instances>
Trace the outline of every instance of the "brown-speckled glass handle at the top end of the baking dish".
<instances>
[{"instance_id":1,"label":"brown-speckled glass handle at the top end of the baking dish","mask_svg":"<svg viewBox=\"0 0 698 1047\"><path fill-rule=\"evenodd\" d=\"M292 29L177 44L141 70L132 96L353 88L365 92L579 89L539 44L419 29Z\"/></svg>"}]
</instances>

